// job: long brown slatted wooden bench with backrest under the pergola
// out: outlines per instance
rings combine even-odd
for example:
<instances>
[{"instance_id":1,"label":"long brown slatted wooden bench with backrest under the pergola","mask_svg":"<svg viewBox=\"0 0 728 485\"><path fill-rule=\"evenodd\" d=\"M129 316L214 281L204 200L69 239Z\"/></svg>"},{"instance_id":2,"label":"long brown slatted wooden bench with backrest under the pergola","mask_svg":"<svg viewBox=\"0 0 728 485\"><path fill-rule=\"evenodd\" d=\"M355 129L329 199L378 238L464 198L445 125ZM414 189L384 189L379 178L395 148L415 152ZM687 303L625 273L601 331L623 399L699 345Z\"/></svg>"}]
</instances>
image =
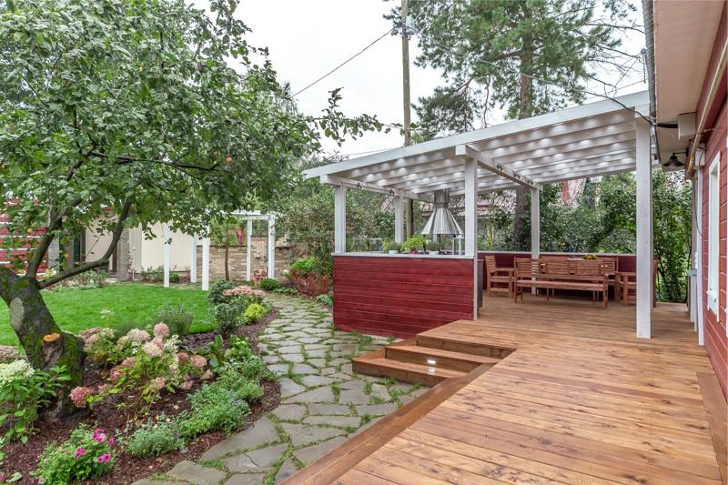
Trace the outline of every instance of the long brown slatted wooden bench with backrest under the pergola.
<instances>
[{"instance_id":1,"label":"long brown slatted wooden bench with backrest under the pergola","mask_svg":"<svg viewBox=\"0 0 728 485\"><path fill-rule=\"evenodd\" d=\"M610 265L597 260L561 260L516 258L514 300L519 294L523 300L523 288L544 288L546 298L552 289L573 289L592 292L592 303L602 293L602 303L609 303Z\"/></svg>"}]
</instances>

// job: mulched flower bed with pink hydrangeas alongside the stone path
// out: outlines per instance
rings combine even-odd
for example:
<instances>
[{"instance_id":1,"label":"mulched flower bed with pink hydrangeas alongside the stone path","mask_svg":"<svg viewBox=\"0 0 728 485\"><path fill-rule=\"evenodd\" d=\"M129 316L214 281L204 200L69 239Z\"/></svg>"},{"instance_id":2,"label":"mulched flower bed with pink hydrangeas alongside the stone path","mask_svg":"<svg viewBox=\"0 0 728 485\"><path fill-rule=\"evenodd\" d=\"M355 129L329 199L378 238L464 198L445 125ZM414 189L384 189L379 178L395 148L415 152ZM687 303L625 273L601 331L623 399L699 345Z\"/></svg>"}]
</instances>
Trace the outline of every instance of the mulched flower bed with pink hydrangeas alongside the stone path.
<instances>
[{"instance_id":1,"label":"mulched flower bed with pink hydrangeas alongside the stone path","mask_svg":"<svg viewBox=\"0 0 728 485\"><path fill-rule=\"evenodd\" d=\"M6 444L0 482L20 473L16 483L38 483L44 474L51 478L45 483L62 483L58 477L131 483L178 460L195 460L226 432L278 405L278 383L264 371L255 337L273 318L275 311L236 328L230 338L217 332L180 338L159 324L133 328L116 341L107 329L86 331L86 378L71 394L81 409L37 423L25 444ZM217 396L230 388L238 400L224 408L217 403L225 399ZM152 450L142 435L150 429L159 435L161 428L173 429L174 441Z\"/></svg>"}]
</instances>

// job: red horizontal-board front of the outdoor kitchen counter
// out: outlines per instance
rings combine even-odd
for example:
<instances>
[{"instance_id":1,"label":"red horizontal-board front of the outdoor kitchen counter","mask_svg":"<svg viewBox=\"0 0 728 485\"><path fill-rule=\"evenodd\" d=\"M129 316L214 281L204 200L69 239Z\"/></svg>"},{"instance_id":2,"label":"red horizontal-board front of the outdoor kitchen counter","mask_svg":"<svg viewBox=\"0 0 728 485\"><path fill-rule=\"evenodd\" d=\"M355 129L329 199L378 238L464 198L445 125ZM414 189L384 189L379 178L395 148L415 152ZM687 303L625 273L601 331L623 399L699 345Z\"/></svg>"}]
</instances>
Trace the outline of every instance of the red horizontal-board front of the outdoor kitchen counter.
<instances>
[{"instance_id":1,"label":"red horizontal-board front of the outdoor kitchen counter","mask_svg":"<svg viewBox=\"0 0 728 485\"><path fill-rule=\"evenodd\" d=\"M472 319L472 259L334 256L334 326L409 338Z\"/></svg>"}]
</instances>

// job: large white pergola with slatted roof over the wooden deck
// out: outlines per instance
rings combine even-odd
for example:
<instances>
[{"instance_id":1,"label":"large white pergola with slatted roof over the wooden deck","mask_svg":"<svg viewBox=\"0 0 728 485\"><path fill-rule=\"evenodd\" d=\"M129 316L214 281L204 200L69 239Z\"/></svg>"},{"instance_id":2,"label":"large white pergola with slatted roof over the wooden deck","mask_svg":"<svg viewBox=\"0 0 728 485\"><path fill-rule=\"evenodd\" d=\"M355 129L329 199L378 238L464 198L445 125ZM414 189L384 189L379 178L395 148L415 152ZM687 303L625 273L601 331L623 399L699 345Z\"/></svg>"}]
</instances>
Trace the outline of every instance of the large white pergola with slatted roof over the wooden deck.
<instances>
[{"instance_id":1,"label":"large white pergola with slatted roof over the wooden deck","mask_svg":"<svg viewBox=\"0 0 728 485\"><path fill-rule=\"evenodd\" d=\"M622 172L637 173L637 336L650 338L652 314L651 126L647 92L445 136L410 147L311 168L335 189L335 253L346 252L346 192L359 188L395 197L401 242L404 199L431 201L435 190L465 199L465 254L477 279L478 194L531 189L531 253L540 254L539 190L543 184ZM480 291L480 288L475 288ZM477 317L478 308L473 309Z\"/></svg>"}]
</instances>

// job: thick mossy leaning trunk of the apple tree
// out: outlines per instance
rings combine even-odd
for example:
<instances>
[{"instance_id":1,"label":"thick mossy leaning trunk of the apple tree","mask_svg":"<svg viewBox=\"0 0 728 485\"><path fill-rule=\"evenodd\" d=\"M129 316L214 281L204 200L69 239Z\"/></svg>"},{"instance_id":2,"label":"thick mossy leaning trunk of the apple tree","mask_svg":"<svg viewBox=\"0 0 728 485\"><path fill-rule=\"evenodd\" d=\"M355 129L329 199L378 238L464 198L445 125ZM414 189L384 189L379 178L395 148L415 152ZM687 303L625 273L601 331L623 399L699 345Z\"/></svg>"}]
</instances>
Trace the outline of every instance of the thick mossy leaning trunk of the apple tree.
<instances>
[{"instance_id":1,"label":"thick mossy leaning trunk of the apple tree","mask_svg":"<svg viewBox=\"0 0 728 485\"><path fill-rule=\"evenodd\" d=\"M0 296L10 309L10 325L31 365L35 369L66 368L71 379L59 392L60 399L54 411L70 410L68 391L84 381L86 354L83 341L58 328L35 278L21 278L9 269L0 268Z\"/></svg>"}]
</instances>

